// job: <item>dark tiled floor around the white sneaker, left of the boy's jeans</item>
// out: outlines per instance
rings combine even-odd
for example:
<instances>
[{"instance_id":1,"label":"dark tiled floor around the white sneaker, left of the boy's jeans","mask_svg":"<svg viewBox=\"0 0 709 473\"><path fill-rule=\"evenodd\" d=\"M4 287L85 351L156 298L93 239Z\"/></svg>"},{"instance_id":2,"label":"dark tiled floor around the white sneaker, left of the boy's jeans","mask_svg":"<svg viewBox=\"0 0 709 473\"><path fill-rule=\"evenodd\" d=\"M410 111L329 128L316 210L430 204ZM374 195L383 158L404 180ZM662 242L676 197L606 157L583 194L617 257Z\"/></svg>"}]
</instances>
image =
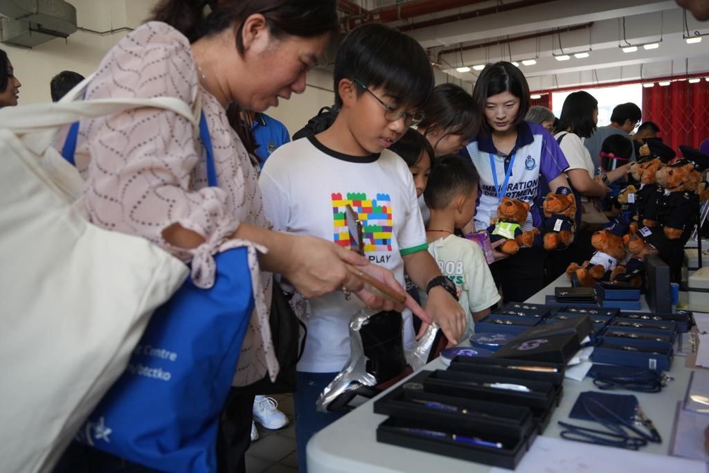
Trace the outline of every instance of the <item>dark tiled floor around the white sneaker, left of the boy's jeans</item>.
<instances>
[{"instance_id":1,"label":"dark tiled floor around the white sneaker, left of the boy's jeans","mask_svg":"<svg viewBox=\"0 0 709 473\"><path fill-rule=\"evenodd\" d=\"M246 452L247 473L296 473L296 417L291 394L271 396L278 401L278 409L288 416L289 425L281 430L267 430L256 423L259 440L251 443Z\"/></svg>"}]
</instances>

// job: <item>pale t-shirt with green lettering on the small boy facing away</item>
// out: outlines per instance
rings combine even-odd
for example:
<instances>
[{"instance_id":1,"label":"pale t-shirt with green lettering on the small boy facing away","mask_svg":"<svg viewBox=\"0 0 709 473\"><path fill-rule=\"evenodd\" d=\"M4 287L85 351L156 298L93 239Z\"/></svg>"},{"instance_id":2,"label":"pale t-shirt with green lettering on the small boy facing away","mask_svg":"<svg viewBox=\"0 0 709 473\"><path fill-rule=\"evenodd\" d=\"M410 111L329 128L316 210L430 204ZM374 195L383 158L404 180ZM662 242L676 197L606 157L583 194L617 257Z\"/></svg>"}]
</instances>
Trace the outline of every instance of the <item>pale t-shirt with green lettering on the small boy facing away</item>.
<instances>
[{"instance_id":1,"label":"pale t-shirt with green lettering on the small boy facing away","mask_svg":"<svg viewBox=\"0 0 709 473\"><path fill-rule=\"evenodd\" d=\"M458 287L459 304L465 311L467 330L465 338L474 333L473 312L496 304L500 293L490 272L483 250L474 241L449 235L428 245L428 252L438 263L441 273ZM419 291L422 304L425 291Z\"/></svg>"}]
</instances>

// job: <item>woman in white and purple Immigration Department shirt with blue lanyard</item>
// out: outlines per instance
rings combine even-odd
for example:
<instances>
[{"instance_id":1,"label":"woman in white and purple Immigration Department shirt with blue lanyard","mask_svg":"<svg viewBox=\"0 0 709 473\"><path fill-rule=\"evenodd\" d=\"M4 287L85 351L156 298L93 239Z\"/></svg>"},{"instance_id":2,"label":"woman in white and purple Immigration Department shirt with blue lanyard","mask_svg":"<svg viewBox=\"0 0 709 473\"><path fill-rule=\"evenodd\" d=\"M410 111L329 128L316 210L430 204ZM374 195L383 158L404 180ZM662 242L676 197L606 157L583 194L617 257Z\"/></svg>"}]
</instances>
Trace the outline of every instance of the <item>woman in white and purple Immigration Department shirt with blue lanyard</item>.
<instances>
[{"instance_id":1,"label":"woman in white and purple Immigration Department shirt with blue lanyard","mask_svg":"<svg viewBox=\"0 0 709 473\"><path fill-rule=\"evenodd\" d=\"M490 225L503 197L530 204L522 230L542 223L537 198L548 189L569 187L569 167L554 137L538 123L527 123L530 91L524 75L510 62L487 65L473 89L482 120L479 133L462 150L480 174L474 217L476 230ZM493 277L505 301L524 301L544 286L544 250L522 248L506 257L496 252Z\"/></svg>"}]
</instances>

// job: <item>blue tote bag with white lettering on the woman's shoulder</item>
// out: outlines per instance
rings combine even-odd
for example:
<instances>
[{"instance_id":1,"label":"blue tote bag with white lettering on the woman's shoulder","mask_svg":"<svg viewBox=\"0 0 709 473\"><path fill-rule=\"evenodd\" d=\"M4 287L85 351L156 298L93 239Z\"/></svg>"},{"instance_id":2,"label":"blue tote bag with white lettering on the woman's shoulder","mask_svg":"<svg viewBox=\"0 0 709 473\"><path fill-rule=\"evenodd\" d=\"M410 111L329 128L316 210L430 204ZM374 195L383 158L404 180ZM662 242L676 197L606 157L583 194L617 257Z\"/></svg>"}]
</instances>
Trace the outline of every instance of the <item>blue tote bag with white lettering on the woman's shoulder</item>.
<instances>
[{"instance_id":1,"label":"blue tote bag with white lettering on the woman's shoulder","mask_svg":"<svg viewBox=\"0 0 709 473\"><path fill-rule=\"evenodd\" d=\"M208 184L216 170L204 113ZM78 123L62 155L73 163ZM247 249L215 256L210 289L191 279L155 311L128 368L77 434L77 440L166 472L216 472L218 420L254 309Z\"/></svg>"}]
</instances>

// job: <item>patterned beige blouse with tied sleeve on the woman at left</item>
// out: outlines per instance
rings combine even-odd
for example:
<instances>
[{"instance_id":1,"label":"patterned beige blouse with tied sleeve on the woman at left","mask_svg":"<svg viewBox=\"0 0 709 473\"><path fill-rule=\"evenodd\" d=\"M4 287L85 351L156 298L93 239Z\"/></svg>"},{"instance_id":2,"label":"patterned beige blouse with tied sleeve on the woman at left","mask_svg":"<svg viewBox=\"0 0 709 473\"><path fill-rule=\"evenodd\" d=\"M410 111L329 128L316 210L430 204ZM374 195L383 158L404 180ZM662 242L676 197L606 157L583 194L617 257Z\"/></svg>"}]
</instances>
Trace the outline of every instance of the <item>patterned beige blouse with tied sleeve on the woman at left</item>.
<instances>
[{"instance_id":1,"label":"patterned beige blouse with tied sleeve on the woman at left","mask_svg":"<svg viewBox=\"0 0 709 473\"><path fill-rule=\"evenodd\" d=\"M171 111L140 108L84 120L76 162L86 179L86 208L97 225L140 235L192 263L195 284L213 284L213 255L247 246L256 308L246 333L235 384L275 376L278 363L269 330L272 276L261 272L257 251L245 240L228 240L242 222L269 228L257 174L230 127L224 108L199 83L187 38L165 23L146 23L104 57L86 99L177 97L193 105L201 94L209 126L218 187L208 187L199 130ZM162 230L179 223L202 235L194 250L169 245ZM268 304L267 304L268 302Z\"/></svg>"}]
</instances>

